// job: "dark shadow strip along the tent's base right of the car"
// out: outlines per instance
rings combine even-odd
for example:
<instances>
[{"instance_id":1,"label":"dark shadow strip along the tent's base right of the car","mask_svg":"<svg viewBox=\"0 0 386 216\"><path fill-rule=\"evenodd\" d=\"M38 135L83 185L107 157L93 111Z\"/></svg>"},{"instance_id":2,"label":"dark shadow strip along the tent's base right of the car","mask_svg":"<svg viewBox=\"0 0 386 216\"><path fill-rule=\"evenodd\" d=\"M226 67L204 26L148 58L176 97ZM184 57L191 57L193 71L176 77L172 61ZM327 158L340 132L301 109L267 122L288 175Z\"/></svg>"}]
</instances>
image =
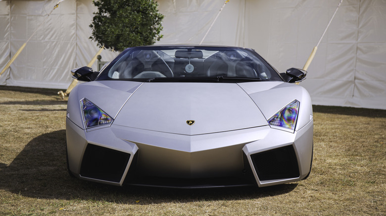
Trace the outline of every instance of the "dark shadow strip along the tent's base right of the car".
<instances>
[{"instance_id":1,"label":"dark shadow strip along the tent's base right of the car","mask_svg":"<svg viewBox=\"0 0 386 216\"><path fill-rule=\"evenodd\" d=\"M386 118L386 110L384 109L368 109L368 108L352 108L352 107L334 107L334 106L312 106L313 112L338 114L338 115L354 115L370 118Z\"/></svg>"}]
</instances>

